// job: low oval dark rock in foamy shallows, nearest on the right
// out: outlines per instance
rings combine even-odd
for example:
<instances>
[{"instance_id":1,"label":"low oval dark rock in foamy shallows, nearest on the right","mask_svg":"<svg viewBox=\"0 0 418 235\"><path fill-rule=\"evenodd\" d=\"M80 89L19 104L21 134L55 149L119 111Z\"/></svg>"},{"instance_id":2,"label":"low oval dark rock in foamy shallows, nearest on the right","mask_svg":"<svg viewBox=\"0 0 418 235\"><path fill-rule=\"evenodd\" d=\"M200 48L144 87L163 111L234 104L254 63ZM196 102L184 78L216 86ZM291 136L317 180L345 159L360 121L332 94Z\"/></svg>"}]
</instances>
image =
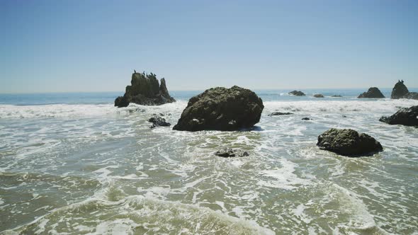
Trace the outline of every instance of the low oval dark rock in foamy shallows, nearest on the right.
<instances>
[{"instance_id":1,"label":"low oval dark rock in foamy shallows, nearest on the right","mask_svg":"<svg viewBox=\"0 0 418 235\"><path fill-rule=\"evenodd\" d=\"M330 129L320 134L317 146L343 156L365 156L383 151L382 145L368 134L351 129Z\"/></svg>"}]
</instances>

